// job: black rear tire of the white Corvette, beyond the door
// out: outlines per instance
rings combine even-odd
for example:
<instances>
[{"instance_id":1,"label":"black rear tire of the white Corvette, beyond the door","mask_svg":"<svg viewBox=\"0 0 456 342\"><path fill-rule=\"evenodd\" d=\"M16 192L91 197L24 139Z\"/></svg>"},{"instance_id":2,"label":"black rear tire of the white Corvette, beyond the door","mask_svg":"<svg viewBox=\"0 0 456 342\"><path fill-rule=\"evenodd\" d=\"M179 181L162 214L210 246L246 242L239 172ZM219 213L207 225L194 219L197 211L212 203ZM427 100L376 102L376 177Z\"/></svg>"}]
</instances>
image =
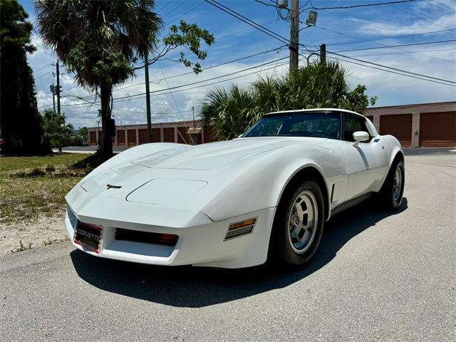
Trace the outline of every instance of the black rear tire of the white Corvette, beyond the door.
<instances>
[{"instance_id":1,"label":"black rear tire of the white Corvette, beyond the door","mask_svg":"<svg viewBox=\"0 0 456 342\"><path fill-rule=\"evenodd\" d=\"M396 172L399 172L398 174ZM397 179L400 175L400 185L398 186ZM383 182L383 186L378 193L380 206L385 210L395 210L402 204L405 185L405 169L404 161L398 157L394 160L390 167L388 176Z\"/></svg>"}]
</instances>

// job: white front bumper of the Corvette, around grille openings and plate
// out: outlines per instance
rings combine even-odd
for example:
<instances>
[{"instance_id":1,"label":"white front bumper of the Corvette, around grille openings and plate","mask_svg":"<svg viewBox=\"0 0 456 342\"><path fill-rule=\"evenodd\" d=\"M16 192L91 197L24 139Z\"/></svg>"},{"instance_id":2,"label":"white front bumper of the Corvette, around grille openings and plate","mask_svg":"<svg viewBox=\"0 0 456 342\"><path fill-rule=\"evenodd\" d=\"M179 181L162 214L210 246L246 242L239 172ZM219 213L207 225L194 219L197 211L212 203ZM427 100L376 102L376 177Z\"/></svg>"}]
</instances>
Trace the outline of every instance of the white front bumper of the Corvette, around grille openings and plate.
<instances>
[{"instance_id":1,"label":"white front bumper of the Corvette, around grille openings and plate","mask_svg":"<svg viewBox=\"0 0 456 342\"><path fill-rule=\"evenodd\" d=\"M115 207L110 209L111 213L118 212ZM188 212L180 213L178 210L161 212L160 219L153 220L155 224L147 224L145 219L140 220L140 222L138 220L128 222L123 219L113 219L113 217L117 216L116 214L112 214L109 217L95 214L90 216L78 214L68 205L65 225L68 238L73 245L95 257L155 265L242 268L264 264L266 261L275 209L275 207L266 208L219 222L212 222L204 214L197 212L195 213L195 218L190 219L190 221L186 219L187 224L182 225L182 227L175 227L175 225L174 227L167 227L163 223L167 222L168 215L172 215L172 217L169 217L171 222L175 221L176 215L180 216L181 214L182 217L188 215ZM121 208L118 208L118 210L121 210ZM229 224L252 217L257 217L252 233L224 241ZM98 253L74 242L76 219L103 226ZM156 224L157 222L160 224ZM195 224L188 224L190 222ZM174 247L118 240L115 239L116 228L160 234L176 234L179 239Z\"/></svg>"}]
</instances>

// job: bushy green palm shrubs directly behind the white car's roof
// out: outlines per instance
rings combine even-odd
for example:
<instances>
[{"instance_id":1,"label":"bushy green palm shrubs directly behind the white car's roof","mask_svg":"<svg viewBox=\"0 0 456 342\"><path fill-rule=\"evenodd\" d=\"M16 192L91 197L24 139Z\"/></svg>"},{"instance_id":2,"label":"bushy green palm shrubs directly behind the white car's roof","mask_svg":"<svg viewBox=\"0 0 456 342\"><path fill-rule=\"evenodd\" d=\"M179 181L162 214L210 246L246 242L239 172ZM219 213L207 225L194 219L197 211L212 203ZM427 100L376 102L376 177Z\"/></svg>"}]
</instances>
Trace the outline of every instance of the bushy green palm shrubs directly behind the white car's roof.
<instances>
[{"instance_id":1,"label":"bushy green palm shrubs directly behind the white car's roof","mask_svg":"<svg viewBox=\"0 0 456 342\"><path fill-rule=\"evenodd\" d=\"M366 86L350 90L346 70L337 62L311 63L281 78L260 78L251 86L209 90L202 100L202 125L214 125L219 140L237 138L262 115L272 111L341 108L364 113L376 97Z\"/></svg>"}]
</instances>

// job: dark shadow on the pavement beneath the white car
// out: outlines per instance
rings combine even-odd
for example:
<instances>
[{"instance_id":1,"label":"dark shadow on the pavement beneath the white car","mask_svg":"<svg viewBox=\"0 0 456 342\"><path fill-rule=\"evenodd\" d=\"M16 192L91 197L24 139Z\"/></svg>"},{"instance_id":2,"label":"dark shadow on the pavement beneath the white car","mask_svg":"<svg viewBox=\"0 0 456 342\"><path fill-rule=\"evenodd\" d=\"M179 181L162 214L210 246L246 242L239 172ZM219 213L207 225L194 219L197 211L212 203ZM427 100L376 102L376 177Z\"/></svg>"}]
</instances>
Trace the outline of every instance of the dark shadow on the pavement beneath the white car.
<instances>
[{"instance_id":1,"label":"dark shadow on the pavement beneath the white car","mask_svg":"<svg viewBox=\"0 0 456 342\"><path fill-rule=\"evenodd\" d=\"M294 284L328 264L350 239L407 208L404 198L395 212L379 212L365 202L336 215L326 222L314 258L299 269L267 264L241 270L153 266L96 258L78 249L71 252L71 260L81 279L105 291L169 306L210 306Z\"/></svg>"}]
</instances>

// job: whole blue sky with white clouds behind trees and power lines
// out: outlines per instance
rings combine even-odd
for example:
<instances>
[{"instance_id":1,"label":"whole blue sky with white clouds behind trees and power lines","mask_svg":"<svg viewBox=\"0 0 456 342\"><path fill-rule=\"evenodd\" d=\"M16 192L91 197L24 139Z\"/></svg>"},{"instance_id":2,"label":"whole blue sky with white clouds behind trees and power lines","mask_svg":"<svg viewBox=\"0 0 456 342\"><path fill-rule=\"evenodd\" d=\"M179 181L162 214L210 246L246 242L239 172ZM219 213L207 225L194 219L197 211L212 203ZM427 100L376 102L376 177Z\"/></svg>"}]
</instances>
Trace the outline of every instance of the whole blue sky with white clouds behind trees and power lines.
<instances>
[{"instance_id":1,"label":"whole blue sky with white clouds behind trees and power lines","mask_svg":"<svg viewBox=\"0 0 456 342\"><path fill-rule=\"evenodd\" d=\"M271 4L270 0L263 1ZM301 0L300 6L305 9L301 13L301 21L304 22L306 20L309 13L307 8L311 4L314 7L322 8L388 1L392 0ZM35 24L33 1L21 0L19 2L30 15L29 20ZM264 4L254 0L219 0L219 2L258 24L262 24L280 36L289 37L289 22L280 19L274 7L264 6ZM289 0L290 2L291 0ZM306 2L308 4L304 6ZM192 118L192 107L195 108L195 115L197 115L201 100L210 88L216 86L228 88L233 83L239 86L248 86L249 83L256 81L259 77L281 76L287 72L288 61L285 57L289 56L289 51L288 48L284 47L283 42L252 28L252 26L239 21L233 16L229 16L229 14L207 4L203 0L160 0L156 1L155 9L165 21L162 36L167 33L167 28L171 24L176 24L180 19L184 19L187 23L196 23L214 34L216 41L212 46L206 47L208 57L205 61L202 61L203 69L244 56L270 51L274 48L278 49L235 63L209 68L197 76L190 73L169 78L190 70L172 61L158 61L150 67L150 78L153 81L151 90L162 90L159 93L152 94L152 122L158 123ZM450 41L456 39L456 31L454 30L456 28L455 0L415 0L384 6L321 9L317 11L316 27L302 30L299 36L299 42L305 44L309 51L314 51L318 49L321 43L326 43L328 51L343 51L338 53L344 56L434 78L456 81L456 42ZM285 14L286 12L283 11L283 13ZM304 24L301 24L301 28L304 26ZM417 35L417 33L427 34ZM398 36L403 37L398 38ZM378 38L382 39L372 41L372 39ZM427 43L434 41L447 42ZM420 43L420 45L385 48L385 46L413 43ZM55 71L55 67L51 66L51 64L55 63L56 55L53 51L46 50L43 47L41 38L36 33L33 34L33 44L38 50L28 56L28 63L33 68L36 80L38 108L43 110L52 106L49 85L53 82L55 83L55 77L52 74ZM346 51L355 49L358 49L358 51ZM304 56L301 57L300 65L305 65L305 56L308 53L304 48L301 48L301 54ZM336 55L328 53L329 56L336 57ZM285 59L276 61L279 58ZM353 61L353 59L350 61L359 63ZM267 64L254 68L264 63ZM354 63L342 63L346 66L348 81L352 88L358 84L364 84L367 87L368 95L378 96L375 106L456 100L456 87L409 78L395 73L387 73ZM225 76L247 68L252 69L232 76ZM73 81L73 75L66 73L66 68L61 68L61 72L63 72L61 77L62 95L65 96L62 98L61 104L67 121L72 123L75 128L96 126L99 103L90 105L90 103L86 102L93 101L95 96L90 91L79 87ZM225 77L217 78L220 76ZM237 76L244 77L227 80ZM201 82L194 86L177 88L175 90L180 91L176 92L174 90L174 93L165 90L187 83L204 81L209 78L217 79ZM208 83L215 81L224 82L208 85ZM138 84L143 82L144 72L138 70L135 78L118 86L117 88L121 89L113 92L113 115L117 125L145 123L145 98L142 95L136 98L120 99L124 96L144 93L144 84ZM196 86L199 86L199 88L195 88ZM81 96L86 101L77 98ZM80 103L83 104L80 105Z\"/></svg>"}]
</instances>

